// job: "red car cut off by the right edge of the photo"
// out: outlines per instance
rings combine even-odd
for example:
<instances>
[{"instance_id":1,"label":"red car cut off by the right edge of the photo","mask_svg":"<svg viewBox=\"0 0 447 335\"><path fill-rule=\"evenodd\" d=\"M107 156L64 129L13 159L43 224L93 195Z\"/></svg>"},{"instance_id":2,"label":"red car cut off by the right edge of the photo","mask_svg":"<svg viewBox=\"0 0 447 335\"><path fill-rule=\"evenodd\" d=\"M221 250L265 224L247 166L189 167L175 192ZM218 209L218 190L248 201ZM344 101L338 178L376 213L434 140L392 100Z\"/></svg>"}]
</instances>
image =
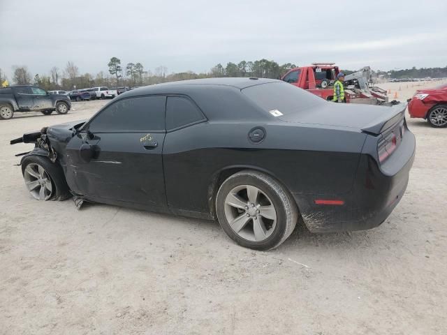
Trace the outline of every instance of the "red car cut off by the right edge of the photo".
<instances>
[{"instance_id":1,"label":"red car cut off by the right edge of the photo","mask_svg":"<svg viewBox=\"0 0 447 335\"><path fill-rule=\"evenodd\" d=\"M447 127L447 84L434 89L419 89L409 99L410 117L427 119L434 128Z\"/></svg>"}]
</instances>

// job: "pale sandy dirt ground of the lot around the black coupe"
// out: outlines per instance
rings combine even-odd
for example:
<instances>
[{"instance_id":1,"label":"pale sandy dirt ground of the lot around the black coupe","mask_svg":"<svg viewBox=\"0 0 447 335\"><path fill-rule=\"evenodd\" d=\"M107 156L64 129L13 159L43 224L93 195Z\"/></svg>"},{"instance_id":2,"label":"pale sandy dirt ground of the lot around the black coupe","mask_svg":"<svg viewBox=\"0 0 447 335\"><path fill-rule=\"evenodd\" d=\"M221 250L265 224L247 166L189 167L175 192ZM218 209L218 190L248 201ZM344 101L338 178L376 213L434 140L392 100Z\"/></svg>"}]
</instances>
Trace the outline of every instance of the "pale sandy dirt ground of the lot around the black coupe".
<instances>
[{"instance_id":1,"label":"pale sandy dirt ground of the lot around the black coupe","mask_svg":"<svg viewBox=\"0 0 447 335\"><path fill-rule=\"evenodd\" d=\"M0 334L446 334L447 129L408 119L416 160L379 228L256 252L216 222L31 199L14 165L31 147L9 140L103 103L0 121Z\"/></svg>"}]
</instances>

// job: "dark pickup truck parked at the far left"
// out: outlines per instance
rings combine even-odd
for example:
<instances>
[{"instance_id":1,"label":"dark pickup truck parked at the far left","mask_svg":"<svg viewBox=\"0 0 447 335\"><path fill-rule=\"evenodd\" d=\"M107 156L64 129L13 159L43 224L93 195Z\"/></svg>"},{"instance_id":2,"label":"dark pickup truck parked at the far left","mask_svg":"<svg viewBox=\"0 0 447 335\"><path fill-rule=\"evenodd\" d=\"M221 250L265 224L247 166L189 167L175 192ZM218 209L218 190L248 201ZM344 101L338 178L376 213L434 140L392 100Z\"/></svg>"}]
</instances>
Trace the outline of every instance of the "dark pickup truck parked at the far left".
<instances>
[{"instance_id":1,"label":"dark pickup truck parked at the far left","mask_svg":"<svg viewBox=\"0 0 447 335\"><path fill-rule=\"evenodd\" d=\"M10 119L14 112L42 112L50 115L54 110L67 114L71 101L64 94L50 94L31 85L0 88L0 119Z\"/></svg>"}]
</instances>

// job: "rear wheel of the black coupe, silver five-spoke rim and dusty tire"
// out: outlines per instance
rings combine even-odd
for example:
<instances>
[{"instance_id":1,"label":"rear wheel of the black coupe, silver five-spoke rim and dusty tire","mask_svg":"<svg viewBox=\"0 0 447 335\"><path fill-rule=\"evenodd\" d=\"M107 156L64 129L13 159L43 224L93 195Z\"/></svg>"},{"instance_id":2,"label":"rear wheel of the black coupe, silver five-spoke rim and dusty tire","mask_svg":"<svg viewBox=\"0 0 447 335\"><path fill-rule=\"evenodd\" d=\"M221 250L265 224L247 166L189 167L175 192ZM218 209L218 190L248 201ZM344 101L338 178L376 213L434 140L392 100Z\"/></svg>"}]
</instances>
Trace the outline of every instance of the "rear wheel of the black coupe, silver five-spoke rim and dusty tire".
<instances>
[{"instance_id":1,"label":"rear wheel of the black coupe, silver five-spoke rim and dusty tire","mask_svg":"<svg viewBox=\"0 0 447 335\"><path fill-rule=\"evenodd\" d=\"M253 170L237 172L223 181L216 211L230 239L256 250L279 246L298 221L298 208L284 186Z\"/></svg>"}]
</instances>

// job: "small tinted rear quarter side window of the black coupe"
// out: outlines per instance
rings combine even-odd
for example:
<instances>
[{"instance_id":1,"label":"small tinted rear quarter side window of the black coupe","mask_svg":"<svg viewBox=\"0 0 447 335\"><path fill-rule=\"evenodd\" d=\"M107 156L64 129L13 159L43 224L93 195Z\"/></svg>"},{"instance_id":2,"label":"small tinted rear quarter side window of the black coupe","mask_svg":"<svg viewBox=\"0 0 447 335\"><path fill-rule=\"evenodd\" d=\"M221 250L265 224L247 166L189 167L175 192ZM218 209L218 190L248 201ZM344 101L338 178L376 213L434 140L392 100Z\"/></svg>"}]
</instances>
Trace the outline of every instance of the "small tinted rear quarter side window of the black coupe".
<instances>
[{"instance_id":1,"label":"small tinted rear quarter side window of the black coupe","mask_svg":"<svg viewBox=\"0 0 447 335\"><path fill-rule=\"evenodd\" d=\"M187 98L168 96L166 103L166 129L175 129L202 121L202 112Z\"/></svg>"}]
</instances>

